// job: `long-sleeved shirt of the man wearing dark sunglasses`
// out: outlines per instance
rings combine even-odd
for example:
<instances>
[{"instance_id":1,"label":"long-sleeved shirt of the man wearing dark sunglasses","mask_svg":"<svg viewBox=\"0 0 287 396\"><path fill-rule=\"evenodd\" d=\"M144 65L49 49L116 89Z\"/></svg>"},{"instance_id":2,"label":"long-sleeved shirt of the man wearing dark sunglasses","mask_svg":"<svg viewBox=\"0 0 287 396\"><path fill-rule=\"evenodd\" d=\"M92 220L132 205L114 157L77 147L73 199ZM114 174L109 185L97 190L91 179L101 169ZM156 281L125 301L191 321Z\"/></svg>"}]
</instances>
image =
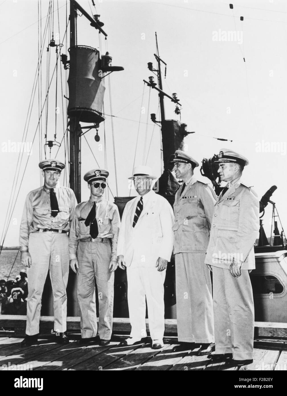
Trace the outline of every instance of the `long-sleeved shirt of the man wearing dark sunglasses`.
<instances>
[{"instance_id":1,"label":"long-sleeved shirt of the man wearing dark sunglasses","mask_svg":"<svg viewBox=\"0 0 287 396\"><path fill-rule=\"evenodd\" d=\"M93 207L94 201L91 198L87 202L81 202L77 205L72 220L70 238L69 238L69 257L70 260L77 258L77 248L79 241L91 238L90 226L85 225L87 215ZM118 207L105 199L96 202L96 219L98 223L99 234L97 238L111 238L112 240L112 257L116 260L116 249L118 234L120 229L120 214Z\"/></svg>"}]
</instances>

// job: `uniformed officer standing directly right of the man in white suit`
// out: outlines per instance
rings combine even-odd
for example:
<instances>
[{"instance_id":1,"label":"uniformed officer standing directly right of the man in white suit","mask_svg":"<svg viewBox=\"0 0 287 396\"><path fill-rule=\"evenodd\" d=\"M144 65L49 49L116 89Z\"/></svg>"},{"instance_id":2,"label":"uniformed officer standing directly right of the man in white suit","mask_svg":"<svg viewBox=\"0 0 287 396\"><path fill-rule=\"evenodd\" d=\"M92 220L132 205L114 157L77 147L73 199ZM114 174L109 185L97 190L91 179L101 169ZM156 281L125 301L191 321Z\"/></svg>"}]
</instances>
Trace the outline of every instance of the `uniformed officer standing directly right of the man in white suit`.
<instances>
[{"instance_id":1,"label":"uniformed officer standing directly right of the man in white suit","mask_svg":"<svg viewBox=\"0 0 287 396\"><path fill-rule=\"evenodd\" d=\"M175 282L177 334L175 351L200 344L198 354L214 350L214 321L210 271L204 264L208 234L216 202L212 188L194 175L198 162L177 150L173 160L177 179L183 184L175 194Z\"/></svg>"}]
</instances>

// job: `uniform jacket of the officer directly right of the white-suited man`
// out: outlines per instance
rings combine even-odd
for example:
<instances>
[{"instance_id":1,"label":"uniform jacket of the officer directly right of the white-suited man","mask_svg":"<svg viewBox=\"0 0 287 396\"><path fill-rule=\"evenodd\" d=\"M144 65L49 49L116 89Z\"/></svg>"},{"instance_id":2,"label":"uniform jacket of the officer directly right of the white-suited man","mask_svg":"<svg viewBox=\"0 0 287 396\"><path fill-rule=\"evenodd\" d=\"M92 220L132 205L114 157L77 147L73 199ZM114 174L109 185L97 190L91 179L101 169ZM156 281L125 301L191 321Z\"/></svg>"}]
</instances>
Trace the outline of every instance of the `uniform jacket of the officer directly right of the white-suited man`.
<instances>
[{"instance_id":1,"label":"uniform jacket of the officer directly right of the white-suited man","mask_svg":"<svg viewBox=\"0 0 287 396\"><path fill-rule=\"evenodd\" d=\"M215 192L207 184L192 177L184 192L181 187L175 194L173 253L205 253L208 245Z\"/></svg>"}]
</instances>

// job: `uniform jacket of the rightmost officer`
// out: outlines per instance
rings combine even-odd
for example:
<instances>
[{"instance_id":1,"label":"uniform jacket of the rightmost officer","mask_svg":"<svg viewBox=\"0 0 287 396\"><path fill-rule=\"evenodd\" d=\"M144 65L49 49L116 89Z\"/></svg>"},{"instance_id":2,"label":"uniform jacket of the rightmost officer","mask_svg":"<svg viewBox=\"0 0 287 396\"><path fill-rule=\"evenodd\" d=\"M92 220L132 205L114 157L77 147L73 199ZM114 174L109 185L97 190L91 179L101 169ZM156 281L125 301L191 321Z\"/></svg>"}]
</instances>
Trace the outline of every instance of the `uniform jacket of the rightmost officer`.
<instances>
[{"instance_id":1,"label":"uniform jacket of the rightmost officer","mask_svg":"<svg viewBox=\"0 0 287 396\"><path fill-rule=\"evenodd\" d=\"M259 227L257 194L238 180L215 204L205 263L229 268L234 258L241 269L254 269Z\"/></svg>"}]
</instances>

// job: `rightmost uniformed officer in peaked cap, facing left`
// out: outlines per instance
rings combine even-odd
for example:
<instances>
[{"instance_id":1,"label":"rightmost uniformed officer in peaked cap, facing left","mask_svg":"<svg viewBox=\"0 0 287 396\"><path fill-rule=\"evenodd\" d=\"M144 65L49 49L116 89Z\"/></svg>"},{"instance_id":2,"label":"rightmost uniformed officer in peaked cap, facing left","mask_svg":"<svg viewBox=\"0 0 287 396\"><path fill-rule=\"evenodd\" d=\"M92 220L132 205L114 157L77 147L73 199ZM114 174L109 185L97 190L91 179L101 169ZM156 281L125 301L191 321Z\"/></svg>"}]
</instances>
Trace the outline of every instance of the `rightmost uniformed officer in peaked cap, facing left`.
<instances>
[{"instance_id":1,"label":"rightmost uniformed officer in peaked cap, facing left","mask_svg":"<svg viewBox=\"0 0 287 396\"><path fill-rule=\"evenodd\" d=\"M248 160L229 149L219 152L219 174L228 184L213 213L205 263L213 273L215 354L228 366L253 362L254 304L249 270L255 268L259 230L257 194L240 180Z\"/></svg>"}]
</instances>

